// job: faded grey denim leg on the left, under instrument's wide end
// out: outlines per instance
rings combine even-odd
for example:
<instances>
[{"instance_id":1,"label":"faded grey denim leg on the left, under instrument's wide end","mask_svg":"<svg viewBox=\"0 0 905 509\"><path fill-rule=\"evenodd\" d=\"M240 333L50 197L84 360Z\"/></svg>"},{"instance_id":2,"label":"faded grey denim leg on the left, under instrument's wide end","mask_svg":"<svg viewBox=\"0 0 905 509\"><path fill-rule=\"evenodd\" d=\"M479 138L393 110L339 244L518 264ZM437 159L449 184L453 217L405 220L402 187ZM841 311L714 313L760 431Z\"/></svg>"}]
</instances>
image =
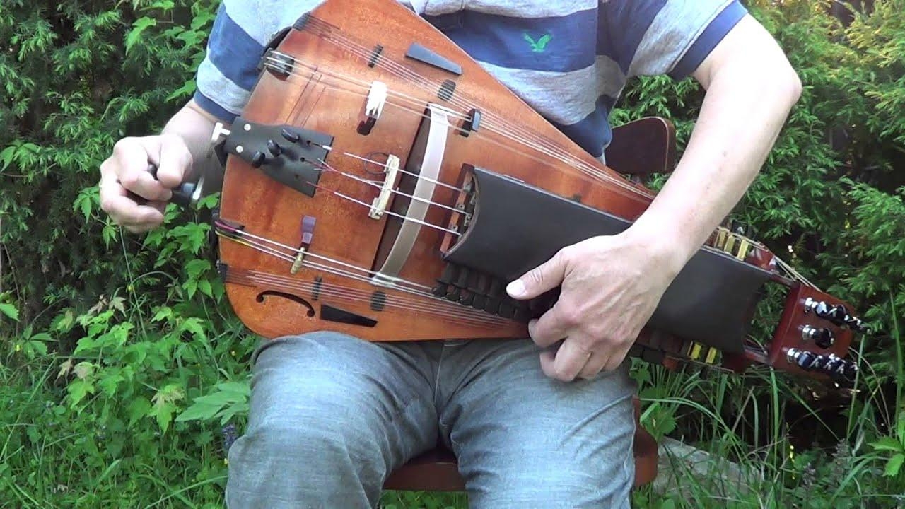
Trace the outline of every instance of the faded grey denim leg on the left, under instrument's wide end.
<instances>
[{"instance_id":1,"label":"faded grey denim leg on the left, under instrument's wide end","mask_svg":"<svg viewBox=\"0 0 905 509\"><path fill-rule=\"evenodd\" d=\"M436 441L433 393L400 355L334 332L264 343L230 506L375 506L389 471Z\"/></svg>"}]
</instances>

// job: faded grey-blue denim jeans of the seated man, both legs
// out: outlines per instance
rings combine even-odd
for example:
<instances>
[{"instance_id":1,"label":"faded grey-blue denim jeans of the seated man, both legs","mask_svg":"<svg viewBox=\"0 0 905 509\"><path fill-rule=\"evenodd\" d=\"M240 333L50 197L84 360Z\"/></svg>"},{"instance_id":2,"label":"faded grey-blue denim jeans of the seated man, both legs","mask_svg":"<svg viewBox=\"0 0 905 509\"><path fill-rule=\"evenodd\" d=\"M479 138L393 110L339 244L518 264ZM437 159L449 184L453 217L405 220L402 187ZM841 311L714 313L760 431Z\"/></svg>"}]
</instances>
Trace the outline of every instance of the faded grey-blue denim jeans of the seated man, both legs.
<instances>
[{"instance_id":1,"label":"faded grey-blue denim jeans of the seated man, both legs","mask_svg":"<svg viewBox=\"0 0 905 509\"><path fill-rule=\"evenodd\" d=\"M231 509L374 507L405 461L451 447L477 508L629 507L627 368L563 383L524 341L371 343L334 332L255 352Z\"/></svg>"}]
</instances>

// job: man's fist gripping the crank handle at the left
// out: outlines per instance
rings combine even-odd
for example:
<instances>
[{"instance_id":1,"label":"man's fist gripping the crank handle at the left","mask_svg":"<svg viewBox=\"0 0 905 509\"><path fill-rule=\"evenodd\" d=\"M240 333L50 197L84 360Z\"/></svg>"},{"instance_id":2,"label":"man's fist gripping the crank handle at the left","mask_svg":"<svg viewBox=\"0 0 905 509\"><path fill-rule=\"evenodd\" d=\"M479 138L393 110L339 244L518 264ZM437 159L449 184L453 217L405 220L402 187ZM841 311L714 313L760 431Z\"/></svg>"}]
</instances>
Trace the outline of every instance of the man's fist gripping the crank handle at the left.
<instances>
[{"instance_id":1,"label":"man's fist gripping the crank handle at the left","mask_svg":"<svg viewBox=\"0 0 905 509\"><path fill-rule=\"evenodd\" d=\"M148 163L157 166L157 178ZM132 233L154 229L163 223L170 189L182 183L192 164L186 141L174 134L120 139L100 164L100 207ZM139 204L136 197L147 202Z\"/></svg>"}]
</instances>

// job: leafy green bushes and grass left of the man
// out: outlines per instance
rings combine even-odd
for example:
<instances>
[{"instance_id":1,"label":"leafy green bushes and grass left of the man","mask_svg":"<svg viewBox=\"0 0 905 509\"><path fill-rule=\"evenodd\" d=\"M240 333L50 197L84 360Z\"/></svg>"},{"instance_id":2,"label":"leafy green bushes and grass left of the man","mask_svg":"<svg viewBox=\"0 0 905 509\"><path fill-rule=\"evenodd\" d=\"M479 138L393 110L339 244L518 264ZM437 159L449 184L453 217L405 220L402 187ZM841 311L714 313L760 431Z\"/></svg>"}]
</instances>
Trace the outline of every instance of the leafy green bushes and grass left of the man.
<instances>
[{"instance_id":1,"label":"leafy green bushes and grass left of the man","mask_svg":"<svg viewBox=\"0 0 905 509\"><path fill-rule=\"evenodd\" d=\"M97 189L114 142L157 132L194 92L219 2L2 4L0 501L222 506L219 444L174 419L186 394L241 378L230 351L252 343L207 296L222 291L209 264L183 272L210 254L205 226L170 210L175 232L146 245Z\"/></svg>"}]
</instances>

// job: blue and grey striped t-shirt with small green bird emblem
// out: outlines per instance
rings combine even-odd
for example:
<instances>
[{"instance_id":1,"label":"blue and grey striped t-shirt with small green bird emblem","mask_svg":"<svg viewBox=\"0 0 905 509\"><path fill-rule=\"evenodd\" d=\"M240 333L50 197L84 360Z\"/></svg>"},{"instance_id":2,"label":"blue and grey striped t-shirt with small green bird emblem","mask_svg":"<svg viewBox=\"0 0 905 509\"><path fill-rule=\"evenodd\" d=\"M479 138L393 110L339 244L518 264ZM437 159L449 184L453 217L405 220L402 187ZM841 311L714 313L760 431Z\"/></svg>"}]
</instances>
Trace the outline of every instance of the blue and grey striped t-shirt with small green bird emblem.
<instances>
[{"instance_id":1,"label":"blue and grey striped t-shirt with small green bird emblem","mask_svg":"<svg viewBox=\"0 0 905 509\"><path fill-rule=\"evenodd\" d=\"M223 0L195 101L232 121L272 34L321 0ZM633 76L693 72L747 14L738 0L408 0L522 100L600 157Z\"/></svg>"}]
</instances>

